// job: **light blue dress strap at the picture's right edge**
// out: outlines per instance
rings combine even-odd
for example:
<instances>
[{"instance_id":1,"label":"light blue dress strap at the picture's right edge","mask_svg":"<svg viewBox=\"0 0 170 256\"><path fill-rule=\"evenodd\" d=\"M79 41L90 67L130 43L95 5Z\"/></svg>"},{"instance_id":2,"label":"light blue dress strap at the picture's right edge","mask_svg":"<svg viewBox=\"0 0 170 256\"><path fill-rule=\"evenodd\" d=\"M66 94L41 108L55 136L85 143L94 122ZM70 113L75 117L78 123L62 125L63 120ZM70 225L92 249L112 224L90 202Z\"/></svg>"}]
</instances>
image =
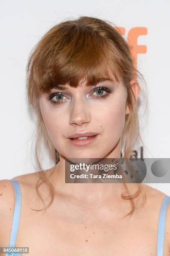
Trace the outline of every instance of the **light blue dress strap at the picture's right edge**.
<instances>
[{"instance_id":1,"label":"light blue dress strap at the picture's right edge","mask_svg":"<svg viewBox=\"0 0 170 256\"><path fill-rule=\"evenodd\" d=\"M163 256L164 236L165 236L165 223L167 206L170 202L170 197L165 196L160 209L158 232L157 232L157 256Z\"/></svg>"}]
</instances>

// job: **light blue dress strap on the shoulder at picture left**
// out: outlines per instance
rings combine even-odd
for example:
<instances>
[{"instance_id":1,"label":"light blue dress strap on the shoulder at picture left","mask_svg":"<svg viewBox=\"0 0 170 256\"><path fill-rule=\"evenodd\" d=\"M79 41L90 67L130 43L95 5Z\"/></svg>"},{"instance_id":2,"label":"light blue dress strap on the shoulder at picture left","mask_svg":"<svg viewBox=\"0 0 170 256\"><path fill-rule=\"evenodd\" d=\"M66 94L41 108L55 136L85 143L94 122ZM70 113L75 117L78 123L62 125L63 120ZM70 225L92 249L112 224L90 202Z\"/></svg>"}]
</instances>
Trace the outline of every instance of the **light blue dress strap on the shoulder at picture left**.
<instances>
[{"instance_id":1,"label":"light blue dress strap on the shoulder at picture left","mask_svg":"<svg viewBox=\"0 0 170 256\"><path fill-rule=\"evenodd\" d=\"M13 224L10 233L10 244L7 247L15 247L17 238L18 227L20 222L20 209L21 209L21 191L20 184L16 179L11 179L15 190L15 208L13 214ZM20 253L6 253L5 256L22 256Z\"/></svg>"}]
</instances>

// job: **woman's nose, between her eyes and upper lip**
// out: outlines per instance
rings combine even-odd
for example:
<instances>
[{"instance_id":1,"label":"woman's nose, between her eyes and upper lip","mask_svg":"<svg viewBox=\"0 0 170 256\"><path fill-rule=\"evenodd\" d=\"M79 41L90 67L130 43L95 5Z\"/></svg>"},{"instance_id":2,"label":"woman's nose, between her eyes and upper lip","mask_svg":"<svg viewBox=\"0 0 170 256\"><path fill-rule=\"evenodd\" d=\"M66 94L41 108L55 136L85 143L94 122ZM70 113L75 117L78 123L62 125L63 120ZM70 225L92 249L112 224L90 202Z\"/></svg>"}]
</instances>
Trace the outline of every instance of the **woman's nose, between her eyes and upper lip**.
<instances>
[{"instance_id":1,"label":"woman's nose, between her eyes and upper lip","mask_svg":"<svg viewBox=\"0 0 170 256\"><path fill-rule=\"evenodd\" d=\"M82 125L91 121L89 108L82 99L74 99L70 109L70 125Z\"/></svg>"}]
</instances>

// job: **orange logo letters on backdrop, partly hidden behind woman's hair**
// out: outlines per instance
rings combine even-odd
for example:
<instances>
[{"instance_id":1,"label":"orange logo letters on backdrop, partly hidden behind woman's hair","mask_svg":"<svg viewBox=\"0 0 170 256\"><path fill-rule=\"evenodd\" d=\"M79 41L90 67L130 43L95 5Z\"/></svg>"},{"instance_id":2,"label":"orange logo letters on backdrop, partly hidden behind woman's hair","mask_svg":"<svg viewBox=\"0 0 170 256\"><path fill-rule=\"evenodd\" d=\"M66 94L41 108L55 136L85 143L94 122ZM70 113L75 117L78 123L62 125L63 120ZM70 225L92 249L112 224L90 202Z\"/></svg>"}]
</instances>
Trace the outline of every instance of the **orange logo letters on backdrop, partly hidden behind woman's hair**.
<instances>
[{"instance_id":1,"label":"orange logo letters on backdrop, partly hidden behind woman's hair","mask_svg":"<svg viewBox=\"0 0 170 256\"><path fill-rule=\"evenodd\" d=\"M118 27L116 28L119 33L122 34L122 36L125 35L125 28ZM147 28L145 27L134 27L129 30L127 33L127 43L129 46L132 47L131 54L132 59L134 62L134 67L137 69L137 54L145 54L147 52L147 46L146 45L138 45L137 39L139 36L147 35Z\"/></svg>"}]
</instances>

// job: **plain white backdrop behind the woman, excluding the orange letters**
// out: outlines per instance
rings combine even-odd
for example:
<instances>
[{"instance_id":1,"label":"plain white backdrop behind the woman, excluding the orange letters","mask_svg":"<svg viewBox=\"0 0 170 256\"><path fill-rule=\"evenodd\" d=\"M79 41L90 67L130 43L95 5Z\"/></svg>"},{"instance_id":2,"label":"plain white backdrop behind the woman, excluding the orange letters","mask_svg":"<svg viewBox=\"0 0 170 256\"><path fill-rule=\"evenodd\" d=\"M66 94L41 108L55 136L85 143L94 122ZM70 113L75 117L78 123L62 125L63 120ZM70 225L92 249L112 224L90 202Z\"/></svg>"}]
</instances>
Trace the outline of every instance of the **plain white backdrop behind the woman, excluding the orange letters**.
<instances>
[{"instance_id":1,"label":"plain white backdrop behind the woman, excluding the orange letters","mask_svg":"<svg viewBox=\"0 0 170 256\"><path fill-rule=\"evenodd\" d=\"M170 1L158 0L6 0L0 4L0 179L33 172L30 155L34 129L25 88L28 54L48 29L80 15L103 18L125 28L147 28L137 39L147 47L137 54L137 68L148 87L148 106L142 125L147 155L170 158L169 24ZM50 167L47 163L48 168ZM170 195L170 184L152 184Z\"/></svg>"}]
</instances>

